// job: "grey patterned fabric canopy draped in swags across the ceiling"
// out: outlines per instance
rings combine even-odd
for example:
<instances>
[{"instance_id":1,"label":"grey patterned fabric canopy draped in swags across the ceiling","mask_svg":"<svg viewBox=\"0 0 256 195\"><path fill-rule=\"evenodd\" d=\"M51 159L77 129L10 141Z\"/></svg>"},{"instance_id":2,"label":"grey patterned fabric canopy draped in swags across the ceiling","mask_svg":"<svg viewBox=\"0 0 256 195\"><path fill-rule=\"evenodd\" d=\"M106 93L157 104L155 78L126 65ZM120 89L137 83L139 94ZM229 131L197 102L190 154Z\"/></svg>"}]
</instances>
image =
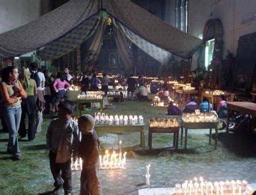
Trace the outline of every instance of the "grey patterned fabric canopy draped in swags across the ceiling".
<instances>
[{"instance_id":1,"label":"grey patterned fabric canopy draped in swags across the ceiling","mask_svg":"<svg viewBox=\"0 0 256 195\"><path fill-rule=\"evenodd\" d=\"M19 56L35 49L42 59L60 57L97 32L100 8L115 18L121 35L160 63L166 63L170 53L192 57L202 44L129 0L71 0L25 26L0 34L0 57Z\"/></svg>"}]
</instances>

